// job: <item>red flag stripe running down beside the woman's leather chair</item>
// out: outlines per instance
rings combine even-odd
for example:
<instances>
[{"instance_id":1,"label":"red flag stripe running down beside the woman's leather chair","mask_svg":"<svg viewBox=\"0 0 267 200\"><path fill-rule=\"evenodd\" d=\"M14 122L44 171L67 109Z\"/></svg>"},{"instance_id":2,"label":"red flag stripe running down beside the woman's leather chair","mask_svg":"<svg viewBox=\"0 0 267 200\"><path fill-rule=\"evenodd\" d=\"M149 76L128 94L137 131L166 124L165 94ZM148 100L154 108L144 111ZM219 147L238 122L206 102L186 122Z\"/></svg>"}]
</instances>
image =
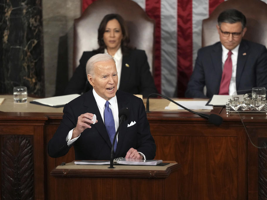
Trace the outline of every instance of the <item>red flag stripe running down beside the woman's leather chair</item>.
<instances>
[{"instance_id":1,"label":"red flag stripe running down beside the woman's leather chair","mask_svg":"<svg viewBox=\"0 0 267 200\"><path fill-rule=\"evenodd\" d=\"M146 0L147 15L155 20L155 55L154 55L154 81L159 93L161 93L161 22L160 0Z\"/></svg>"}]
</instances>

